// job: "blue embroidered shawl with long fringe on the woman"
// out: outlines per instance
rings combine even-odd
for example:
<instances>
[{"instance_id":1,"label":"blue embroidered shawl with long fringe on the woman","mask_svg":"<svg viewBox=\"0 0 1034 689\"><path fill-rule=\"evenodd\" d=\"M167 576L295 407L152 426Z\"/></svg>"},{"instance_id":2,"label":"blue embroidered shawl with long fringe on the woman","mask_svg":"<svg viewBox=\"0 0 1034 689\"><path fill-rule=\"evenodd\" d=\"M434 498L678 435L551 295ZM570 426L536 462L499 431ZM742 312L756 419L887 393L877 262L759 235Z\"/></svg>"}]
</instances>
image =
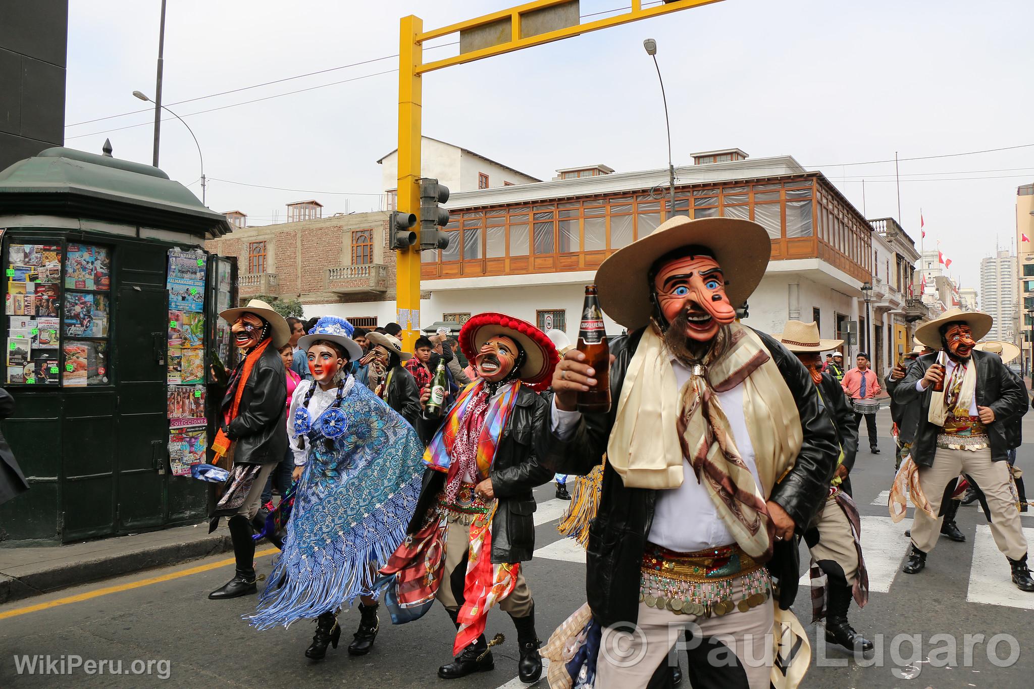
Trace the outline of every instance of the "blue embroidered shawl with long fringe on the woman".
<instances>
[{"instance_id":1,"label":"blue embroidered shawl with long fringe on the woman","mask_svg":"<svg viewBox=\"0 0 1034 689\"><path fill-rule=\"evenodd\" d=\"M376 570L405 538L416 510L424 473L417 432L365 385L348 387L309 429L283 551L258 609L245 617L260 629L372 595Z\"/></svg>"}]
</instances>

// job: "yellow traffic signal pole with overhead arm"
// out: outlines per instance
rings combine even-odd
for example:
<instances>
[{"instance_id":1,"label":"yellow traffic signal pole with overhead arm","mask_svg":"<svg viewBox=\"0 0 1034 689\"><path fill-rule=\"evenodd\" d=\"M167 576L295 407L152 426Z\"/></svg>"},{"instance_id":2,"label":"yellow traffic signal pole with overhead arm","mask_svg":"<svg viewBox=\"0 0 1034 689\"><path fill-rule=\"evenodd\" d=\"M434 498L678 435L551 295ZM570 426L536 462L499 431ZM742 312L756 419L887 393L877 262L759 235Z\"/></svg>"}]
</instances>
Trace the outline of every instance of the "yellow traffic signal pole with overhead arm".
<instances>
[{"instance_id":1,"label":"yellow traffic signal pole with overhead arm","mask_svg":"<svg viewBox=\"0 0 1034 689\"><path fill-rule=\"evenodd\" d=\"M643 8L642 0L632 0L632 7L629 11L620 14L612 14L585 24L575 23L570 26L560 26L552 30L543 29L541 33L524 35L526 32L523 30L522 20L525 17L551 7L569 4L571 1L535 0L535 2L450 24L427 32L424 32L424 23L420 18L413 15L402 18L398 58L398 207L396 210L400 213L414 213L418 218L420 215L420 147L422 140L420 97L421 75L424 72L518 51L522 48L541 45L589 31L660 17L680 9L721 2L721 0L672 0L661 5ZM540 13L539 18L541 17ZM423 64L423 42L425 40L487 25L496 25L496 35L499 36L499 42L465 53L461 52L452 58ZM541 22L539 26L542 26ZM420 328L419 222L415 229L418 232L417 242L404 251L398 251L396 261L395 299L398 323L402 326L402 344L407 351L412 349L417 338L417 331Z\"/></svg>"}]
</instances>

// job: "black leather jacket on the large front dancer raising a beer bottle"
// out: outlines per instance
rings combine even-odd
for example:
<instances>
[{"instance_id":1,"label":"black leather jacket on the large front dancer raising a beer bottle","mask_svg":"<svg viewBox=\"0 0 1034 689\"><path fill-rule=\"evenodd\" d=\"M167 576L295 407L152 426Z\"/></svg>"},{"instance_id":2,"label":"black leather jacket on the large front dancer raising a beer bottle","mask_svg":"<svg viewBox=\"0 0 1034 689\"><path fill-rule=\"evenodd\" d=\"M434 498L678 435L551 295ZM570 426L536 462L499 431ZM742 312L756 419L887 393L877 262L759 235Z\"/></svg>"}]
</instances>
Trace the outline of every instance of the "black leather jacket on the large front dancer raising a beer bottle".
<instances>
[{"instance_id":1,"label":"black leather jacket on the large front dancer raising a beer bottle","mask_svg":"<svg viewBox=\"0 0 1034 689\"><path fill-rule=\"evenodd\" d=\"M637 331L610 343L610 352L615 356L610 367L611 400L620 398L625 373L641 336L642 331ZM803 365L772 338L763 333L758 336L786 379L803 427L800 453L768 498L793 518L800 534L828 495L840 455L835 432L829 416L819 406L815 383ZM616 413L617 405L612 404L605 414L583 414L568 441L561 441L551 432L547 414L543 425L536 427L536 445L547 469L582 475L591 471L607 450ZM588 603L604 626L632 624L638 619L639 574L657 496L655 490L626 488L617 472L605 465L600 507L589 526L586 550ZM777 541L766 566L780 580L780 605L786 609L797 595L797 538Z\"/></svg>"}]
</instances>

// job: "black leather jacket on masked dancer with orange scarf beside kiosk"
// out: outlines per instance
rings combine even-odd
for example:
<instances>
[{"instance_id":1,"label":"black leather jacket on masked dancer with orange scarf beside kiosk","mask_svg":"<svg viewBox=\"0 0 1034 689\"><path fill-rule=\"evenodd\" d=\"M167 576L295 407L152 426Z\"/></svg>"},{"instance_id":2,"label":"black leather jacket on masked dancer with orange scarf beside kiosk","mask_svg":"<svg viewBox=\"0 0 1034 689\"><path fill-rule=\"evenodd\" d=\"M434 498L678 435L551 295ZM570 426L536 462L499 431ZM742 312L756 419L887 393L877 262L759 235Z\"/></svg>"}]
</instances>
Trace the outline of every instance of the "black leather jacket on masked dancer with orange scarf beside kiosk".
<instances>
[{"instance_id":1,"label":"black leather jacket on masked dancer with orange scarf beside kiosk","mask_svg":"<svg viewBox=\"0 0 1034 689\"><path fill-rule=\"evenodd\" d=\"M238 366L244 366L242 359ZM241 395L237 417L223 427L237 442L235 464L271 464L287 451L287 374L276 347L270 343L251 369ZM234 402L233 393L222 397L220 424Z\"/></svg>"}]
</instances>

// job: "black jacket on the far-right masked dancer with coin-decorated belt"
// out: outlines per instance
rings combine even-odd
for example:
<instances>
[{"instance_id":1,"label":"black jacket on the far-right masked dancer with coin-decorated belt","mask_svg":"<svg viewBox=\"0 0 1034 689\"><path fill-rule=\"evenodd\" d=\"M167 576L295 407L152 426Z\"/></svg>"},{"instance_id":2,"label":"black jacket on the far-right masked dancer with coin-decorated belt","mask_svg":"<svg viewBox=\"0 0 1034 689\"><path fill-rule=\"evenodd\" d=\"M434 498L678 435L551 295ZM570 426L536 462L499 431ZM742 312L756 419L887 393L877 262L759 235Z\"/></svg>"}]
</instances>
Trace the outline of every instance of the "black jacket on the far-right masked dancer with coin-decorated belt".
<instances>
[{"instance_id":1,"label":"black jacket on the far-right masked dancer with coin-decorated belt","mask_svg":"<svg viewBox=\"0 0 1034 689\"><path fill-rule=\"evenodd\" d=\"M1002 364L1002 357L998 354L973 350L970 356L976 364L976 403L981 407L990 407L995 412L995 421L987 426L991 459L1001 462L1006 459L1006 450L1010 447L1007 427L1027 413L1027 392L1016 375ZM915 384L922 380L926 369L936 362L937 352L917 356L893 392L895 402L911 405L917 412L912 460L920 467L933 466L937 435L941 429L926 420L934 386L927 385L925 390L919 393Z\"/></svg>"}]
</instances>

